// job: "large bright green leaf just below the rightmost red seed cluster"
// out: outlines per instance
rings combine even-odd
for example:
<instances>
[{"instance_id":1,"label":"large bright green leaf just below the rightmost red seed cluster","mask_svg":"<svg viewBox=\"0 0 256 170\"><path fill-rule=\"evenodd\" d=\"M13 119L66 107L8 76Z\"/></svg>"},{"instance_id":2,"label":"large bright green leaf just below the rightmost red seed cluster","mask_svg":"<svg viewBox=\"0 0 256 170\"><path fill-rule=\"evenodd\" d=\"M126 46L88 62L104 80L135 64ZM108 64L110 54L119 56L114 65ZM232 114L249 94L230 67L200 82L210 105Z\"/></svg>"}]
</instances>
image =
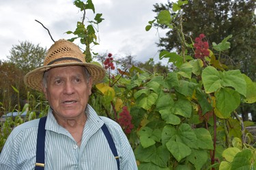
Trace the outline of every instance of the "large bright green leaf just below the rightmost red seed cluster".
<instances>
[{"instance_id":1,"label":"large bright green leaf just below the rightmost red seed cluster","mask_svg":"<svg viewBox=\"0 0 256 170\"><path fill-rule=\"evenodd\" d=\"M206 93L215 92L216 90L221 88L221 75L212 66L208 66L203 69L202 80Z\"/></svg>"}]
</instances>

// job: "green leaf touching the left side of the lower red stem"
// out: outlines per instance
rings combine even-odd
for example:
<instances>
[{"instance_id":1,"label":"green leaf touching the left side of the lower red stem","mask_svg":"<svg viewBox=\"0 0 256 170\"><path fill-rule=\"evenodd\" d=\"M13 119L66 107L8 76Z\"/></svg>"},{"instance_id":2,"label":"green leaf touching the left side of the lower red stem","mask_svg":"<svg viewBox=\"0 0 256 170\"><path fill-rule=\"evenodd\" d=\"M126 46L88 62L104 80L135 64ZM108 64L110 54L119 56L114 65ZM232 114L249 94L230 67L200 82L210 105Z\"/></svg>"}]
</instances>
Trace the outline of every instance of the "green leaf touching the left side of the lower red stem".
<instances>
[{"instance_id":1,"label":"green leaf touching the left side of the lower red stem","mask_svg":"<svg viewBox=\"0 0 256 170\"><path fill-rule=\"evenodd\" d=\"M197 144L199 148L205 150L213 150L213 141L210 132L206 129L199 128L194 129L195 135L197 135Z\"/></svg>"}]
</instances>

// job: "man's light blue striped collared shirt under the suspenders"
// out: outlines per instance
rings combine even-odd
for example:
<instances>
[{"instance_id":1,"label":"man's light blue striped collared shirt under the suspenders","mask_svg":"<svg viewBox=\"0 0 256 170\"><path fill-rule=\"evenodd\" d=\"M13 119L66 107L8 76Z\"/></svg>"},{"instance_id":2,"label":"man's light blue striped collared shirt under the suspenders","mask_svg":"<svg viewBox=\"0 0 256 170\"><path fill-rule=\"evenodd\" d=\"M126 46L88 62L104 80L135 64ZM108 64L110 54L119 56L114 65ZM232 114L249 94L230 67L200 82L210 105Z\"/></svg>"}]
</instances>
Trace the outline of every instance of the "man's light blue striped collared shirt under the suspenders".
<instances>
[{"instance_id":1,"label":"man's light blue striped collared shirt under the suspenders","mask_svg":"<svg viewBox=\"0 0 256 170\"><path fill-rule=\"evenodd\" d=\"M86 114L87 121L79 147L72 135L57 123L49 110L45 127L44 169L117 169L117 162L101 130L104 123L115 142L120 169L137 169L132 148L119 124L109 118L99 117L90 105L87 105ZM39 119L25 122L12 131L0 155L1 170L35 168L38 122Z\"/></svg>"}]
</instances>

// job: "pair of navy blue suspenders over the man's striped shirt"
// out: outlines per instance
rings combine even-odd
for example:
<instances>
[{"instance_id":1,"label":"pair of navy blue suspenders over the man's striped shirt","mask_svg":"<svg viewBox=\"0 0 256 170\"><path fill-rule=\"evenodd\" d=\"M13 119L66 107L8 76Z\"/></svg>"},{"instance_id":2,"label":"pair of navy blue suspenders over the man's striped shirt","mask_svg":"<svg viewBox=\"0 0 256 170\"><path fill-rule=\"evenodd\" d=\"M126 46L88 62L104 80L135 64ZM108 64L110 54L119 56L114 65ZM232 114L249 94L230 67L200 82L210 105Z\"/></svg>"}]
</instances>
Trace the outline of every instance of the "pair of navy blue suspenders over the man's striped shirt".
<instances>
[{"instance_id":1,"label":"pair of navy blue suspenders over the man's striped shirt","mask_svg":"<svg viewBox=\"0 0 256 170\"><path fill-rule=\"evenodd\" d=\"M43 170L44 169L44 144L45 144L45 123L46 123L46 116L43 118L40 118L39 124L38 124L38 139L36 143L36 163L35 163L35 170ZM115 160L117 160L117 167L118 170L120 169L120 163L119 163L119 156L117 154L117 149L115 148L115 143L113 141L113 138L111 134L109 133L109 129L106 127L106 124L103 124L101 127L108 143L109 147L111 148L111 151L113 155L115 156Z\"/></svg>"}]
</instances>

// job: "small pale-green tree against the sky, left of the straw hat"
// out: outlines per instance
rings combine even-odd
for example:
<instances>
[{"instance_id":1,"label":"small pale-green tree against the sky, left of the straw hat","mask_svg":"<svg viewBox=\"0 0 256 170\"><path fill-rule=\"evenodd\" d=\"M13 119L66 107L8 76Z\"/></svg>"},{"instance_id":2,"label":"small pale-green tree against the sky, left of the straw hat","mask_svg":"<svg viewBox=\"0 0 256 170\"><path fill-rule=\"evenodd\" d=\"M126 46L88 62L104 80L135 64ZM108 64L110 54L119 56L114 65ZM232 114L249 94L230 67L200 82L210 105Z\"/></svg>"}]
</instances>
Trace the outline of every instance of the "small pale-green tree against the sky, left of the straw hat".
<instances>
[{"instance_id":1,"label":"small pale-green tree against the sky, left of the straw hat","mask_svg":"<svg viewBox=\"0 0 256 170\"><path fill-rule=\"evenodd\" d=\"M42 66L46 48L31 44L29 41L22 41L19 45L12 46L10 50L10 62L14 63L25 73Z\"/></svg>"}]
</instances>

